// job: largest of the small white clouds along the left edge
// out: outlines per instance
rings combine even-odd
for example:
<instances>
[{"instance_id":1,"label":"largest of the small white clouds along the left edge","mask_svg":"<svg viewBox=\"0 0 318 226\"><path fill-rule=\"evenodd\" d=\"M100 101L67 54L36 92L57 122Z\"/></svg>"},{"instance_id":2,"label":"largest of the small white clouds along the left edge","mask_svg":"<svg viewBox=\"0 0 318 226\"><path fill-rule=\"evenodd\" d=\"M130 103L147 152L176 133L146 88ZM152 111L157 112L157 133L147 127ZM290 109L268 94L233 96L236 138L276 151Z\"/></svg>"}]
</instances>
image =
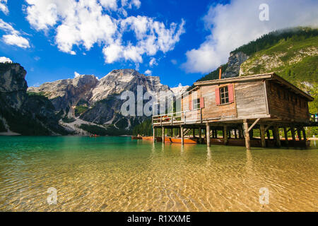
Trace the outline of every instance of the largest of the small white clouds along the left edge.
<instances>
[{"instance_id":1,"label":"largest of the small white clouds along the left edge","mask_svg":"<svg viewBox=\"0 0 318 226\"><path fill-rule=\"evenodd\" d=\"M2 40L6 44L16 45L23 49L30 47L29 41L25 37L20 36L20 32L18 32L18 30L15 30L11 24L6 23L1 19L0 30L4 30L4 32L6 32L6 35L2 36Z\"/></svg>"}]
</instances>

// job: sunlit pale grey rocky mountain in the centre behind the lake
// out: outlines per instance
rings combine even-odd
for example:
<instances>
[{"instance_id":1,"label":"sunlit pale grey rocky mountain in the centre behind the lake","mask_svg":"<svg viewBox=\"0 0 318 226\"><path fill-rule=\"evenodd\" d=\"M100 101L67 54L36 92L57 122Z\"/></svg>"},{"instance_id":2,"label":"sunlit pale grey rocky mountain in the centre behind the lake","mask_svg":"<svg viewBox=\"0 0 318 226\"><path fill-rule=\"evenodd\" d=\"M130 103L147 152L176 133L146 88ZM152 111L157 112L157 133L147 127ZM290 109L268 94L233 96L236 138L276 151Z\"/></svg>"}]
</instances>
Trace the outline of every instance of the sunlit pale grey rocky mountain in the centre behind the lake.
<instances>
[{"instance_id":1,"label":"sunlit pale grey rocky mountain in the centre behind the lake","mask_svg":"<svg viewBox=\"0 0 318 226\"><path fill-rule=\"evenodd\" d=\"M121 100L124 91L136 95L138 85L143 93L152 94L169 91L156 76L145 76L133 69L114 70L98 80L95 76L76 76L73 79L44 83L30 87L28 92L47 97L60 115L60 124L73 133L98 133L102 135L130 134L134 126L147 117L124 117L121 114ZM186 87L172 89L182 93Z\"/></svg>"}]
</instances>

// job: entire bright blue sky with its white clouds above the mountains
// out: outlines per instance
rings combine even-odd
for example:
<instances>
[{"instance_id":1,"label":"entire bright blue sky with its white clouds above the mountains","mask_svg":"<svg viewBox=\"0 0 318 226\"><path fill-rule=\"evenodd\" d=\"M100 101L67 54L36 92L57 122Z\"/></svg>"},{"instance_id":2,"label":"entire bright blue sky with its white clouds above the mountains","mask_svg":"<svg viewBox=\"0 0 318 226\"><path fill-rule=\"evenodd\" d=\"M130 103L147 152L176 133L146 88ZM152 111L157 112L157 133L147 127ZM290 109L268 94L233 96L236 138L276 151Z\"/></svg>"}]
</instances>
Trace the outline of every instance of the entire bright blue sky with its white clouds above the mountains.
<instances>
[{"instance_id":1,"label":"entire bright blue sky with its white clouds above the mountains","mask_svg":"<svg viewBox=\"0 0 318 226\"><path fill-rule=\"evenodd\" d=\"M317 11L316 0L0 0L0 57L29 86L127 68L192 85L271 30L317 27Z\"/></svg>"}]
</instances>

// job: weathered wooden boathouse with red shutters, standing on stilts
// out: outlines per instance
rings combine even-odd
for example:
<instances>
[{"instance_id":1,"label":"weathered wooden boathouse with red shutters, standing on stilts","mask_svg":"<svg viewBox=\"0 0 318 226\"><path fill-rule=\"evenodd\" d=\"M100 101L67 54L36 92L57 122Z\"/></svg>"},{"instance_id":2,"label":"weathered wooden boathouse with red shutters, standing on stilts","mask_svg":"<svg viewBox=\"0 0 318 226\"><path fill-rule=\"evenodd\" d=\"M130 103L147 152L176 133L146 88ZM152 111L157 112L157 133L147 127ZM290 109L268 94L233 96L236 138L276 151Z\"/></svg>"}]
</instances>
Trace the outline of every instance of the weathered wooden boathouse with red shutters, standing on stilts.
<instances>
[{"instance_id":1,"label":"weathered wooden boathouse with red shutters, standing on stilts","mask_svg":"<svg viewBox=\"0 0 318 226\"><path fill-rule=\"evenodd\" d=\"M207 145L245 145L248 149L251 145L304 146L304 127L317 126L310 121L308 109L314 98L276 73L194 85L182 95L180 112L153 116L153 141L184 144L184 136L190 132L191 141Z\"/></svg>"}]
</instances>

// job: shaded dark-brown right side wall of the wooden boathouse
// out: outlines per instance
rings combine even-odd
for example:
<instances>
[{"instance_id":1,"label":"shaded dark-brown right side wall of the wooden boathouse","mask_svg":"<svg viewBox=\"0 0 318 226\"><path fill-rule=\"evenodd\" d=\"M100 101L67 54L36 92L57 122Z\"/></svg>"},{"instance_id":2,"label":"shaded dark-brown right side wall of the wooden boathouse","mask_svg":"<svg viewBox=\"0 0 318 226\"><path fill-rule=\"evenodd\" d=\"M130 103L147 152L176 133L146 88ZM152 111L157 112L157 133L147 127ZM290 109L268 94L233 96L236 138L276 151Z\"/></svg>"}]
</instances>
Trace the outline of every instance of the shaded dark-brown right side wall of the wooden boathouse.
<instances>
[{"instance_id":1,"label":"shaded dark-brown right side wall of the wooden boathouse","mask_svg":"<svg viewBox=\"0 0 318 226\"><path fill-rule=\"evenodd\" d=\"M269 113L286 121L307 121L309 110L307 100L282 85L267 82Z\"/></svg>"}]
</instances>

